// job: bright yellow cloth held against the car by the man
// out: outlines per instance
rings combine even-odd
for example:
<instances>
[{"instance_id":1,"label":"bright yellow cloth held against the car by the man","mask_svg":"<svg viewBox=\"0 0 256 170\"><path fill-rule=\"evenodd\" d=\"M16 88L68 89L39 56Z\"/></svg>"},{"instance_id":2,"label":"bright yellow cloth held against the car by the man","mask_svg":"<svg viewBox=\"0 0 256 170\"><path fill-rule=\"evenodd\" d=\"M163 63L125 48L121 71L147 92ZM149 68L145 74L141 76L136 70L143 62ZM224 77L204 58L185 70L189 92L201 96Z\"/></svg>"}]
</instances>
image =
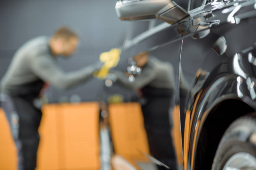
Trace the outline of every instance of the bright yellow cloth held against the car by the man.
<instances>
[{"instance_id":1,"label":"bright yellow cloth held against the car by the man","mask_svg":"<svg viewBox=\"0 0 256 170\"><path fill-rule=\"evenodd\" d=\"M120 60L121 50L118 48L113 48L108 52L102 52L100 54L100 61L104 64L100 68L93 73L94 77L104 79L110 70L110 68L117 66Z\"/></svg>"}]
</instances>

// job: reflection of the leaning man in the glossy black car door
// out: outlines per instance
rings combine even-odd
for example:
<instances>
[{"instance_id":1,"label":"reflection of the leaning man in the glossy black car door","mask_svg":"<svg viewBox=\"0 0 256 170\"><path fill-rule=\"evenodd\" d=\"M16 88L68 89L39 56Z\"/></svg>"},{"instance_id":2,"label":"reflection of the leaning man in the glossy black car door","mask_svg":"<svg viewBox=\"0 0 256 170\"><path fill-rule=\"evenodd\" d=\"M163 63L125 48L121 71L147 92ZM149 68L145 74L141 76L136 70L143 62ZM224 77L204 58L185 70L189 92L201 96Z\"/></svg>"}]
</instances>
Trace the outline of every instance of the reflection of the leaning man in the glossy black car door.
<instances>
[{"instance_id":1,"label":"reflection of the leaning man in the glossy black car door","mask_svg":"<svg viewBox=\"0 0 256 170\"><path fill-rule=\"evenodd\" d=\"M175 104L174 69L167 62L162 62L142 52L133 57L138 67L142 68L141 75L131 82L125 73L111 70L117 82L126 87L140 89L145 103L142 104L144 126L148 136L151 154L171 169L177 168L176 155L172 145L171 110ZM165 169L158 166L158 169Z\"/></svg>"}]
</instances>

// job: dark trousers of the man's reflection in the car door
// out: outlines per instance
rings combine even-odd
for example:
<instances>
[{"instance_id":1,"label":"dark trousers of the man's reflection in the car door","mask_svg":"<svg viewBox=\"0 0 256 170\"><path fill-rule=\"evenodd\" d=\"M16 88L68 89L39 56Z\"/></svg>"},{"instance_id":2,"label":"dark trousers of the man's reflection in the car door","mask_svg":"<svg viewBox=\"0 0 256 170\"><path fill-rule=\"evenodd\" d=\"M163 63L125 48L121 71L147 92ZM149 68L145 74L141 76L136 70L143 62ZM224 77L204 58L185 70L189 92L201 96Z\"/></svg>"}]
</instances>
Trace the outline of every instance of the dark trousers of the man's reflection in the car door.
<instances>
[{"instance_id":1,"label":"dark trousers of the man's reflection in the car door","mask_svg":"<svg viewBox=\"0 0 256 170\"><path fill-rule=\"evenodd\" d=\"M174 95L169 90L145 88L146 104L142 105L144 126L151 154L171 170L177 170L176 153L172 141L172 116ZM158 170L166 170L158 165Z\"/></svg>"}]
</instances>

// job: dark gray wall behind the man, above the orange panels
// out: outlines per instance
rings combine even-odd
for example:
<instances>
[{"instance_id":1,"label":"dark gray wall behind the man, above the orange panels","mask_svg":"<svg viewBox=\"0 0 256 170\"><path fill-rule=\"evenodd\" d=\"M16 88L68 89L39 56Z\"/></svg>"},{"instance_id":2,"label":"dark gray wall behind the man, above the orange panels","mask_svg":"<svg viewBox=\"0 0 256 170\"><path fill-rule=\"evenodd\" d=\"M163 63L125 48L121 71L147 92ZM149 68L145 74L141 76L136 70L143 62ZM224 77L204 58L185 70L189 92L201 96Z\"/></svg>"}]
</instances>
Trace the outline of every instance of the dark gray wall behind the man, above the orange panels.
<instances>
[{"instance_id":1,"label":"dark gray wall behind the man, above the orange panels","mask_svg":"<svg viewBox=\"0 0 256 170\"><path fill-rule=\"evenodd\" d=\"M129 22L118 20L116 0L8 0L0 1L0 77L10 63L15 50L39 35L52 35L61 26L77 31L80 44L74 56L59 59L66 70L76 70L99 59L101 52L122 44ZM47 90L50 102L60 96L79 94L83 101L97 100L103 92L102 81L90 81L61 91ZM122 88L118 88L121 92ZM126 92L123 92L126 93ZM129 93L129 92L128 92Z\"/></svg>"}]
</instances>

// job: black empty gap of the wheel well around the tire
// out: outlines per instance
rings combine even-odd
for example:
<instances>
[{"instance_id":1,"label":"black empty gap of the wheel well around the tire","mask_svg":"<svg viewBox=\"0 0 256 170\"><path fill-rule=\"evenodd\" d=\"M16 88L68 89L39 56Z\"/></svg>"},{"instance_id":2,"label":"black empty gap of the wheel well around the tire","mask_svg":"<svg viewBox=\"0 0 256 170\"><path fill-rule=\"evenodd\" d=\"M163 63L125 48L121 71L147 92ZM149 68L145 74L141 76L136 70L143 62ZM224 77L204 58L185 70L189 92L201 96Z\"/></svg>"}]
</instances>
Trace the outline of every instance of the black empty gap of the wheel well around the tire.
<instances>
[{"instance_id":1,"label":"black empty gap of the wheel well around the tire","mask_svg":"<svg viewBox=\"0 0 256 170\"><path fill-rule=\"evenodd\" d=\"M215 152L225 130L238 117L254 111L253 107L240 99L227 99L215 105L209 111L200 130L193 169L211 169Z\"/></svg>"}]
</instances>

